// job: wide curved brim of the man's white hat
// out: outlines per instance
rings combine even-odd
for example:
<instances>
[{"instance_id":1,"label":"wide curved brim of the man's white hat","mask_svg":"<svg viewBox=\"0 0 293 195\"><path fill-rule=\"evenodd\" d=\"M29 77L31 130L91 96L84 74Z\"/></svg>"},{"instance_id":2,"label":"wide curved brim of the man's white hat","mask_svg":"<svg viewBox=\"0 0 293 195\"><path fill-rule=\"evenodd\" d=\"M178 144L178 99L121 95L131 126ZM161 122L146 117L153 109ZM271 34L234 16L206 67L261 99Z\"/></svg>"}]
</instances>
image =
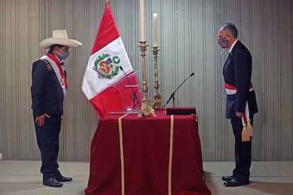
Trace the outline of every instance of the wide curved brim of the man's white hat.
<instances>
[{"instance_id":1,"label":"wide curved brim of the man's white hat","mask_svg":"<svg viewBox=\"0 0 293 195\"><path fill-rule=\"evenodd\" d=\"M43 49L49 49L51 45L65 45L68 47L79 47L82 45L82 43L79 42L78 40L71 40L71 39L65 39L65 38L59 38L59 37L47 38L40 42L40 47L42 47Z\"/></svg>"}]
</instances>

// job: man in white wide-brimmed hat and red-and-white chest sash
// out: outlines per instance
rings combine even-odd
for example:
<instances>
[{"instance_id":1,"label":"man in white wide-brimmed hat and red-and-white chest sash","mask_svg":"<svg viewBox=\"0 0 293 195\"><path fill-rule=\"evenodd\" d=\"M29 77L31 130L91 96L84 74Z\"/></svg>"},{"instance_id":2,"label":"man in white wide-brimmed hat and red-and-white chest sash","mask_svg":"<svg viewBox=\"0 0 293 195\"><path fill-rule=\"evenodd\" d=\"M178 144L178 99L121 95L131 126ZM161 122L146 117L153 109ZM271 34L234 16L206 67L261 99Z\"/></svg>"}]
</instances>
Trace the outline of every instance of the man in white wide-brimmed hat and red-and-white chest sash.
<instances>
[{"instance_id":1,"label":"man in white wide-brimmed hat and red-and-white chest sash","mask_svg":"<svg viewBox=\"0 0 293 195\"><path fill-rule=\"evenodd\" d=\"M61 182L70 182L58 168L59 131L63 116L63 102L67 91L67 72L64 60L69 56L69 47L82 43L67 37L67 30L53 30L52 37L42 40L40 47L50 49L33 63L31 85L32 109L35 133L40 148L44 185L62 187Z\"/></svg>"}]
</instances>

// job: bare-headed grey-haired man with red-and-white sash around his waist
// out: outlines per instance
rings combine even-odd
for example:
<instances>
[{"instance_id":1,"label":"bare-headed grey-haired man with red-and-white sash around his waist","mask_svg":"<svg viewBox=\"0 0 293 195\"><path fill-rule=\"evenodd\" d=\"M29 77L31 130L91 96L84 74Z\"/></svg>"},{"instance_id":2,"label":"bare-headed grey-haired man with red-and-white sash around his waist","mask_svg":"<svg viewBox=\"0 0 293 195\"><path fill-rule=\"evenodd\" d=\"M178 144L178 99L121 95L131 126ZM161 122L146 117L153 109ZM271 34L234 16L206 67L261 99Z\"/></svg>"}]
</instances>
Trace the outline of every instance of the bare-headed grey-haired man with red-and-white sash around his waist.
<instances>
[{"instance_id":1,"label":"bare-headed grey-haired man with red-and-white sash around his waist","mask_svg":"<svg viewBox=\"0 0 293 195\"><path fill-rule=\"evenodd\" d=\"M226 118L231 120L235 137L236 167L231 176L223 176L226 187L249 184L251 167L251 135L243 140L243 132L253 124L258 112L255 92L251 83L252 57L248 49L237 40L238 30L225 23L218 30L218 43L229 49L223 69L226 88ZM245 131L244 131L245 130Z\"/></svg>"}]
</instances>

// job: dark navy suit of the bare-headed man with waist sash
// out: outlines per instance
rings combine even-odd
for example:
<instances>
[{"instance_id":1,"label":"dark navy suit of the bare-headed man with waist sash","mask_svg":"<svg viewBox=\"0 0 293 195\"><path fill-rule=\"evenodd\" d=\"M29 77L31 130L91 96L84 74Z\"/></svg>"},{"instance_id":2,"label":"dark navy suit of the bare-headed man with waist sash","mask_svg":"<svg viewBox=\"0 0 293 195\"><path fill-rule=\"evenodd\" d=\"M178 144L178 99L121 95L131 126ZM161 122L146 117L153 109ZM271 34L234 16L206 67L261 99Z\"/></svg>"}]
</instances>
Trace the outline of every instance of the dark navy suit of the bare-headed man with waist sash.
<instances>
[{"instance_id":1,"label":"dark navy suit of the bare-headed man with waist sash","mask_svg":"<svg viewBox=\"0 0 293 195\"><path fill-rule=\"evenodd\" d=\"M233 176L239 181L249 179L251 167L251 141L241 141L243 129L241 119L236 117L236 111L245 112L248 102L251 124L253 114L258 112L255 92L249 91L251 83L252 57L248 49L238 40L231 54L226 59L223 69L224 81L237 88L236 94L226 95L226 118L231 119L235 137L235 160L236 168Z\"/></svg>"}]
</instances>

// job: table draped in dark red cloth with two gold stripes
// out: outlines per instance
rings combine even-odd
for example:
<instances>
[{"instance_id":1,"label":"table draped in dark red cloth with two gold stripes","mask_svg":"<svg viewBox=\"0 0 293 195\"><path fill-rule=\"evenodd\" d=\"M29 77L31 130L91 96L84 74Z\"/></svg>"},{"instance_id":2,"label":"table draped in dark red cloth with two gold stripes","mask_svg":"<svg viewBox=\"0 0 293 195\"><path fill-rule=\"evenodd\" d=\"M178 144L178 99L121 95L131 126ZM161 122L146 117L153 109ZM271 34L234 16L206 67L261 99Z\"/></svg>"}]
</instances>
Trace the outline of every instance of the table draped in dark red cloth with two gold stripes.
<instances>
[{"instance_id":1,"label":"table draped in dark red cloth with two gold stripes","mask_svg":"<svg viewBox=\"0 0 293 195\"><path fill-rule=\"evenodd\" d=\"M165 113L99 119L86 194L211 194L195 115Z\"/></svg>"}]
</instances>

